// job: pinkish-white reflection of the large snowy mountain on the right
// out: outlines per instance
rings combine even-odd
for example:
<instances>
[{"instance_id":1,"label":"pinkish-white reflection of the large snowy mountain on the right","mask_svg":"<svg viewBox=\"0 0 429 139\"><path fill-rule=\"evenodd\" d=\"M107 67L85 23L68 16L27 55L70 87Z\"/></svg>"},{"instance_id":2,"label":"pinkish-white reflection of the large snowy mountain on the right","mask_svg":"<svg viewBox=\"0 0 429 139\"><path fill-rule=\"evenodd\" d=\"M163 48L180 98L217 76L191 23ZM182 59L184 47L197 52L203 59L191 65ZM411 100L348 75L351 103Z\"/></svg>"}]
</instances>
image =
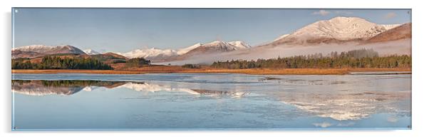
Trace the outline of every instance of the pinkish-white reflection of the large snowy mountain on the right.
<instances>
[{"instance_id":1,"label":"pinkish-white reflection of the large snowy mountain on the right","mask_svg":"<svg viewBox=\"0 0 429 139\"><path fill-rule=\"evenodd\" d=\"M280 97L286 104L322 118L335 120L359 120L373 113L398 113L407 115L410 99L408 92L365 93L294 93Z\"/></svg>"}]
</instances>

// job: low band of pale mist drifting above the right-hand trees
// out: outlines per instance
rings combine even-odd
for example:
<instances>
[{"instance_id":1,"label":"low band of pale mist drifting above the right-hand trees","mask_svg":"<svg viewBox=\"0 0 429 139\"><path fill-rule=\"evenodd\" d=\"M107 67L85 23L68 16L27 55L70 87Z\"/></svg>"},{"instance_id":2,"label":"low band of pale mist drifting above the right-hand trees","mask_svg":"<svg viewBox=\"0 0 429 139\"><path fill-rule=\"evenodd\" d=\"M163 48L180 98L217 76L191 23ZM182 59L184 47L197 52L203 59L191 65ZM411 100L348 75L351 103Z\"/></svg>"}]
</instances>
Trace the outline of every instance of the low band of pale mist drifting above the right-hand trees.
<instances>
[{"instance_id":1,"label":"low band of pale mist drifting above the right-hand trees","mask_svg":"<svg viewBox=\"0 0 429 139\"><path fill-rule=\"evenodd\" d=\"M324 56L328 55L332 51L338 53L343 51L351 51L357 49L373 49L378 52L379 56L388 55L411 55L411 40L403 39L398 41L389 41L383 43L341 43L341 44L316 44L311 46L293 46L283 45L276 47L254 47L246 50L237 50L227 53L215 53L192 56L184 61L171 61L164 63L154 63L162 65L183 65L185 63L195 63L210 65L215 61L230 61L230 60L257 60L258 58L278 58L278 57L289 57L289 56L301 56L309 55L314 53L322 53Z\"/></svg>"}]
</instances>

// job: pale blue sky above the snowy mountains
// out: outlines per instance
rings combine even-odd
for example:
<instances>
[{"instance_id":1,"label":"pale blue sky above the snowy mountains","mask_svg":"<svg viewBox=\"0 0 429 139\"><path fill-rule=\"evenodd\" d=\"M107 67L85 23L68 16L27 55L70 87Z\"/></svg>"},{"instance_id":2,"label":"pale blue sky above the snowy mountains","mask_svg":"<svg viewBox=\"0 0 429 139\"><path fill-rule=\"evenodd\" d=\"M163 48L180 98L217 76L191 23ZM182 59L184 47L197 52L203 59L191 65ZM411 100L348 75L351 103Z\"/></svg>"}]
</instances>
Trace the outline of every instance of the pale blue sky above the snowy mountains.
<instances>
[{"instance_id":1,"label":"pale blue sky above the snowy mountains","mask_svg":"<svg viewBox=\"0 0 429 139\"><path fill-rule=\"evenodd\" d=\"M183 48L242 40L252 46L314 21L356 16L376 24L410 22L410 9L14 9L15 46L72 45L106 52Z\"/></svg>"}]
</instances>

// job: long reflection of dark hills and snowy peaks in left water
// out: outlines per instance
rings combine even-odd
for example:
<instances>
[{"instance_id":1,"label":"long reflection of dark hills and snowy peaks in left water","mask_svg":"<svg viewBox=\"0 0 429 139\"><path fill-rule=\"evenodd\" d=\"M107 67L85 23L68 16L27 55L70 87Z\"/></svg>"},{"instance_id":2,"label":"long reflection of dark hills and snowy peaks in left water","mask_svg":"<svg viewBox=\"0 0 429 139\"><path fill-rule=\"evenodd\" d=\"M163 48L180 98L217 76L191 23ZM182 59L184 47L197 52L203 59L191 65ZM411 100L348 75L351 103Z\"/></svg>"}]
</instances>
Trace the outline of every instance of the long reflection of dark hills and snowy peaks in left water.
<instances>
[{"instance_id":1,"label":"long reflection of dark hills and snowy peaks in left water","mask_svg":"<svg viewBox=\"0 0 429 139\"><path fill-rule=\"evenodd\" d=\"M176 91L205 96L241 97L249 93L213 91L193 88L172 88L153 83L131 81L25 81L12 80L12 91L29 96L61 95L69 96L80 91L93 91L98 87L129 88L139 92Z\"/></svg>"}]
</instances>

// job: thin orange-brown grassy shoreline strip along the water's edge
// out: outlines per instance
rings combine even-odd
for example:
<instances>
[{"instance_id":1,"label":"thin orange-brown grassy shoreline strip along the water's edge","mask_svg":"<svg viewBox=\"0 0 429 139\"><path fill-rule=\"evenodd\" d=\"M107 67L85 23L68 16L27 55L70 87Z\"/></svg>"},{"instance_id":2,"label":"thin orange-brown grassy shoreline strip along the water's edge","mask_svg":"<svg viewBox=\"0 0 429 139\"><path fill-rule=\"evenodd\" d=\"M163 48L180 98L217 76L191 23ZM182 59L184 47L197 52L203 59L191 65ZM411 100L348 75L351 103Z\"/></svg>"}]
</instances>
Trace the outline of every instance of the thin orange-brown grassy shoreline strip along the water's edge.
<instances>
[{"instance_id":1,"label":"thin orange-brown grassy shoreline strip along the water's edge","mask_svg":"<svg viewBox=\"0 0 429 139\"><path fill-rule=\"evenodd\" d=\"M12 69L11 73L88 73L88 74L145 74L145 73L244 73L249 75L346 75L351 72L404 72L412 74L411 68L248 68L248 69L223 69L223 68L182 68L180 70L159 70L157 67L135 70L23 70ZM398 74L398 73L395 73Z\"/></svg>"}]
</instances>

